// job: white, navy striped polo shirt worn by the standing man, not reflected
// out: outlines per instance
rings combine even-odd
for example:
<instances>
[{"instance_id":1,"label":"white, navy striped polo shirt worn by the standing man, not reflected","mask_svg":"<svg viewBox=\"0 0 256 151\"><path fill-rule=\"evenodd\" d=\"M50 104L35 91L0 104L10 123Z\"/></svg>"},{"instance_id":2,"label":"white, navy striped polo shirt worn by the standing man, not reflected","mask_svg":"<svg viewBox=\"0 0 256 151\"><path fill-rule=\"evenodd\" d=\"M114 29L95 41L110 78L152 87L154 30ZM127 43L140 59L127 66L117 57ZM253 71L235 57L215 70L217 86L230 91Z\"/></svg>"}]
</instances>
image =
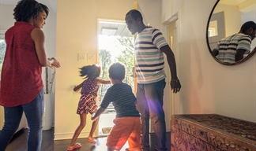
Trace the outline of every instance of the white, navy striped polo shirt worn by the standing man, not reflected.
<instances>
[{"instance_id":1,"label":"white, navy striped polo shirt worn by the standing man, not reflected","mask_svg":"<svg viewBox=\"0 0 256 151\"><path fill-rule=\"evenodd\" d=\"M156 28L145 28L135 41L135 65L137 83L156 83L165 78L162 46L168 45Z\"/></svg>"}]
</instances>

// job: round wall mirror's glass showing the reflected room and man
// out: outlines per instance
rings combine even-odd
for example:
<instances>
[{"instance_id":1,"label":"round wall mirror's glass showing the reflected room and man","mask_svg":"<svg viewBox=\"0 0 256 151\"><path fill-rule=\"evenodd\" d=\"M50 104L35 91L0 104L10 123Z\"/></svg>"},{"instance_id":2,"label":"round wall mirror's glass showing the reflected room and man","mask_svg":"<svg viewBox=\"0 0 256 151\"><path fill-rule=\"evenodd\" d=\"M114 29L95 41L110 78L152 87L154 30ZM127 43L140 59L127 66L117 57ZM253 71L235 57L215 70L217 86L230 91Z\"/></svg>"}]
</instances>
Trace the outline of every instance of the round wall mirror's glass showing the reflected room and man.
<instances>
[{"instance_id":1,"label":"round wall mirror's glass showing the reflected room and man","mask_svg":"<svg viewBox=\"0 0 256 151\"><path fill-rule=\"evenodd\" d=\"M219 0L213 7L206 39L210 53L220 64L239 64L255 52L256 24L240 30L243 24L255 20L255 2L256 0Z\"/></svg>"}]
</instances>

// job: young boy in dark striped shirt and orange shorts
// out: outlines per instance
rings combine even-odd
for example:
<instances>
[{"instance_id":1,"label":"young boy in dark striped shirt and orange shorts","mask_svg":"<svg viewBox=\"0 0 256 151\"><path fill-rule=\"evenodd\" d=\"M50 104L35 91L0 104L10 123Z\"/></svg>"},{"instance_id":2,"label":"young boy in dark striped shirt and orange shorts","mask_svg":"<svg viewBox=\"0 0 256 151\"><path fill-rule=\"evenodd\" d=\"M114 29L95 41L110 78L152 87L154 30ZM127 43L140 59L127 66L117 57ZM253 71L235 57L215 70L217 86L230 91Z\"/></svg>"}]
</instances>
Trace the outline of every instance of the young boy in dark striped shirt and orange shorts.
<instances>
[{"instance_id":1,"label":"young boy in dark striped shirt and orange shorts","mask_svg":"<svg viewBox=\"0 0 256 151\"><path fill-rule=\"evenodd\" d=\"M107 136L107 151L122 149L127 140L130 146L128 150L141 151L141 120L135 106L136 98L130 85L122 83L126 68L124 64L116 62L111 64L108 74L113 86L107 90L100 108L92 116L92 120L96 120L112 102L116 118L115 126Z\"/></svg>"}]
</instances>

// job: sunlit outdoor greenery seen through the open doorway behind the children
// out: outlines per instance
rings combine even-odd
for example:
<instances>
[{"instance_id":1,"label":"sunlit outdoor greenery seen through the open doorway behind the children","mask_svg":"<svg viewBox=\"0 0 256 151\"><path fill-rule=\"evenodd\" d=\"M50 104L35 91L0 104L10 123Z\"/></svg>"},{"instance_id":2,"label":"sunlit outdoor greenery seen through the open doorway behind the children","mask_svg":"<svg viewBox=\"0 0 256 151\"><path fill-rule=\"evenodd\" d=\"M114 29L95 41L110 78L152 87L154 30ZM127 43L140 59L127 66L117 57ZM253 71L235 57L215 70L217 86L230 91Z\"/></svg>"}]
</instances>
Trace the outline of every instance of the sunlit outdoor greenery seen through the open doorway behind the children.
<instances>
[{"instance_id":1,"label":"sunlit outdoor greenery seen through the open doorway behind the children","mask_svg":"<svg viewBox=\"0 0 256 151\"><path fill-rule=\"evenodd\" d=\"M134 67L134 38L133 37L119 37L117 38L118 45L122 45L123 48L120 50L118 57L111 58L111 52L108 50L100 50L100 66L101 66L101 75L100 79L108 79L108 67L114 61L120 61L126 65L126 78L124 83L128 83L134 90L134 78L133 67ZM114 60L114 61L113 61ZM99 88L100 96L99 101L104 98L104 94L107 92L107 88L111 85L102 84Z\"/></svg>"}]
</instances>

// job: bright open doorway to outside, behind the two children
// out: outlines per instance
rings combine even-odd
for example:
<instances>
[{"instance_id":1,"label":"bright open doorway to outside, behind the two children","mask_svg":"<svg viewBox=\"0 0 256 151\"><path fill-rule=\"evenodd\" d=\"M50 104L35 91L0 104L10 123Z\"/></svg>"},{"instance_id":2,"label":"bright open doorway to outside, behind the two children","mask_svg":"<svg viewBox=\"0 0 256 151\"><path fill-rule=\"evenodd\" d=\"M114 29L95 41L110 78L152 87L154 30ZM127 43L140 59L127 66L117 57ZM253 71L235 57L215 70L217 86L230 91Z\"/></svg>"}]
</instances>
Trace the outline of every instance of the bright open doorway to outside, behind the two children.
<instances>
[{"instance_id":1,"label":"bright open doorway to outside, behind the two children","mask_svg":"<svg viewBox=\"0 0 256 151\"><path fill-rule=\"evenodd\" d=\"M108 79L108 67L116 61L126 65L125 83L134 88L134 36L120 20L98 20L98 53L101 66L100 79ZM104 98L110 85L100 85L98 102ZM107 136L114 126L115 109L112 104L100 115L98 137Z\"/></svg>"}]
</instances>

